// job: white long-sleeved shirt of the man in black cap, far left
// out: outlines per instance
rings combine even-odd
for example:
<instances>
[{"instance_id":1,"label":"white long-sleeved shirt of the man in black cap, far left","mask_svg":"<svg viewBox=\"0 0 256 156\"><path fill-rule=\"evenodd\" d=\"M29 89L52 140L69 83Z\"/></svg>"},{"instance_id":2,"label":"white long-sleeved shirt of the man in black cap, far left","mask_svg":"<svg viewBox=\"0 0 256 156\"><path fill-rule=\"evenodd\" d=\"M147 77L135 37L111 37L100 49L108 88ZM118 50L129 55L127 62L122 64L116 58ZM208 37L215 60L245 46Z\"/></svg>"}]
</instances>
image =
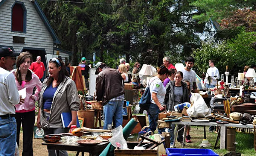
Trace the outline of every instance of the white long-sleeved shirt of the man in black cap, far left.
<instances>
[{"instance_id":1,"label":"white long-sleeved shirt of the man in black cap, far left","mask_svg":"<svg viewBox=\"0 0 256 156\"><path fill-rule=\"evenodd\" d=\"M20 95L14 75L0 68L0 115L15 114L14 105L20 102Z\"/></svg>"}]
</instances>

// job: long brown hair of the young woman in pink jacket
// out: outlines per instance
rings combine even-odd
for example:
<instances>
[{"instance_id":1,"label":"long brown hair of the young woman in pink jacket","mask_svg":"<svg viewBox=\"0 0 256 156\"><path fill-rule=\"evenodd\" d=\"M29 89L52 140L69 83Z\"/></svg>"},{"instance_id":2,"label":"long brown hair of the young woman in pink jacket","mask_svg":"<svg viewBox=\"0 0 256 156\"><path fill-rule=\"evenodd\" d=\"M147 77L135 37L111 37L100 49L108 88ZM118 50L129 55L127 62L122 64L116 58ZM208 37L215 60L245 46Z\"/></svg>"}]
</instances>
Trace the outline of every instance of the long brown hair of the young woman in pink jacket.
<instances>
[{"instance_id":1,"label":"long brown hair of the young woman in pink jacket","mask_svg":"<svg viewBox=\"0 0 256 156\"><path fill-rule=\"evenodd\" d=\"M16 79L17 79L17 81L20 85L22 84L21 73L20 73L20 65L27 58L30 58L30 65L31 65L32 56L30 55L30 53L28 51L20 53L20 55L18 56L18 59L17 59L17 70L16 70L16 73L15 73L15 77L16 77ZM30 70L27 70L25 81L29 82L31 79L32 79L32 73L31 73Z\"/></svg>"}]
</instances>

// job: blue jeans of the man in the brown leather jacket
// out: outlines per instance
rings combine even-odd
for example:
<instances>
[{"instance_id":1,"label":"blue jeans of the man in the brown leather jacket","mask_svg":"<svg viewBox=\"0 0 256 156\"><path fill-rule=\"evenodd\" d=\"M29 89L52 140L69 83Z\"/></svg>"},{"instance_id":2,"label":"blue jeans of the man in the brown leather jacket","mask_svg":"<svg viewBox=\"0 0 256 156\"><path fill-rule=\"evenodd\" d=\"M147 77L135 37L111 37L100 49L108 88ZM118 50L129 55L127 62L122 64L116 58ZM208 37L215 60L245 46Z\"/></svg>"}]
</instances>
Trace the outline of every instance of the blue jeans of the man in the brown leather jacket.
<instances>
[{"instance_id":1,"label":"blue jeans of the man in the brown leather jacket","mask_svg":"<svg viewBox=\"0 0 256 156\"><path fill-rule=\"evenodd\" d=\"M115 128L123 123L123 102L122 101L108 101L106 105L103 106L104 111L104 126L103 129L108 129L108 124L112 125L113 116L115 121Z\"/></svg>"}]
</instances>

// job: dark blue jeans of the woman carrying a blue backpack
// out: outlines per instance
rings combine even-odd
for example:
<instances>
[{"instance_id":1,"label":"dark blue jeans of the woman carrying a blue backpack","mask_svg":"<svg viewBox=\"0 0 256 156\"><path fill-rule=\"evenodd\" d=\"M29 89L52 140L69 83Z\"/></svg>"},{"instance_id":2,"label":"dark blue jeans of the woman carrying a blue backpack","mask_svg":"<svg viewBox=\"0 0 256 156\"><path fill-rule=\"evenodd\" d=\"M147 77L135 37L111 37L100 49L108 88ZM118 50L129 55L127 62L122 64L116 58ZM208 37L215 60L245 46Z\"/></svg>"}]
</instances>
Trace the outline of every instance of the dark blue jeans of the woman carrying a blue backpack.
<instances>
[{"instance_id":1,"label":"dark blue jeans of the woman carrying a blue backpack","mask_svg":"<svg viewBox=\"0 0 256 156\"><path fill-rule=\"evenodd\" d=\"M157 129L158 114L162 111L160 111L157 105L155 105L154 103L151 103L147 112L148 112L148 120L149 120L148 131L151 130L154 133L154 131ZM164 128L158 129L158 134L162 134L162 132L164 131L165 131Z\"/></svg>"}]
</instances>

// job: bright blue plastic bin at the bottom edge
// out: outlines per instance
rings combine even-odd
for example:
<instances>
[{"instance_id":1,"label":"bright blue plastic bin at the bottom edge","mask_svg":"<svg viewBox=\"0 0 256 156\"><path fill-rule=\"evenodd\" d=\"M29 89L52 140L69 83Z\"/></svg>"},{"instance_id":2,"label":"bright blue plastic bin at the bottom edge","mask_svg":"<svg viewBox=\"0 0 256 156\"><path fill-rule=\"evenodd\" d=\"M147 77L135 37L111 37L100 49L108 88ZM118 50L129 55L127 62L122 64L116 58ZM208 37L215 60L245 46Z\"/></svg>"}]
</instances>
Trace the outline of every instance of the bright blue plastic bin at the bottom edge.
<instances>
[{"instance_id":1,"label":"bright blue plastic bin at the bottom edge","mask_svg":"<svg viewBox=\"0 0 256 156\"><path fill-rule=\"evenodd\" d=\"M218 156L211 149L196 149L196 148L166 148L168 156Z\"/></svg>"}]
</instances>

